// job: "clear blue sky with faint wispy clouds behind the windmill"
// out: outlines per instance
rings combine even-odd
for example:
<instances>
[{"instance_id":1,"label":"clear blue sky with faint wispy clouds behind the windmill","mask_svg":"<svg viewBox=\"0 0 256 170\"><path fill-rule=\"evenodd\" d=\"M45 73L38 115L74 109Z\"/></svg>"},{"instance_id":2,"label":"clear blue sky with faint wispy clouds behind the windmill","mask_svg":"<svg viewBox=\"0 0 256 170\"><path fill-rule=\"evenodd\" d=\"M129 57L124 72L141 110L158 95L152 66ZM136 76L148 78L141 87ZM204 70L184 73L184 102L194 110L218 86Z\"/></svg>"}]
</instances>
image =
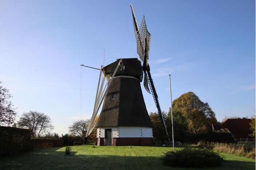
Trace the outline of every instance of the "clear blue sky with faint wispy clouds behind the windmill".
<instances>
[{"instance_id":1,"label":"clear blue sky with faint wispy clouds behind the windmill","mask_svg":"<svg viewBox=\"0 0 256 170\"><path fill-rule=\"evenodd\" d=\"M0 81L18 116L51 116L54 132L80 119L80 64L135 58L130 4L152 35L151 74L163 111L188 91L217 120L255 114L255 1L0 1ZM82 117L91 117L99 72L82 69ZM143 86L143 84L141 84ZM156 111L143 87L148 112Z\"/></svg>"}]
</instances>

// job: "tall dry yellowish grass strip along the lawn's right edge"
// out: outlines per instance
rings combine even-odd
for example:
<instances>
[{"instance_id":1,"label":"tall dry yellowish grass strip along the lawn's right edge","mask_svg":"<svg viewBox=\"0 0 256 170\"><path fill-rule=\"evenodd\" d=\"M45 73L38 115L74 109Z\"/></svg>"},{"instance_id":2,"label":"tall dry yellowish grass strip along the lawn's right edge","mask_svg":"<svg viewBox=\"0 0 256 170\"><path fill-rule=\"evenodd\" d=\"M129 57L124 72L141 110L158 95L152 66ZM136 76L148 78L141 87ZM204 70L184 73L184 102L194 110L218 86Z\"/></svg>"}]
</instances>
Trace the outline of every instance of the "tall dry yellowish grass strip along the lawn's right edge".
<instances>
[{"instance_id":1,"label":"tall dry yellowish grass strip along the lawn's right edge","mask_svg":"<svg viewBox=\"0 0 256 170\"><path fill-rule=\"evenodd\" d=\"M199 148L211 148L215 152L229 153L236 156L243 156L247 158L255 159L255 145L245 144L232 144L232 143L209 143L209 142L198 142L196 145Z\"/></svg>"}]
</instances>

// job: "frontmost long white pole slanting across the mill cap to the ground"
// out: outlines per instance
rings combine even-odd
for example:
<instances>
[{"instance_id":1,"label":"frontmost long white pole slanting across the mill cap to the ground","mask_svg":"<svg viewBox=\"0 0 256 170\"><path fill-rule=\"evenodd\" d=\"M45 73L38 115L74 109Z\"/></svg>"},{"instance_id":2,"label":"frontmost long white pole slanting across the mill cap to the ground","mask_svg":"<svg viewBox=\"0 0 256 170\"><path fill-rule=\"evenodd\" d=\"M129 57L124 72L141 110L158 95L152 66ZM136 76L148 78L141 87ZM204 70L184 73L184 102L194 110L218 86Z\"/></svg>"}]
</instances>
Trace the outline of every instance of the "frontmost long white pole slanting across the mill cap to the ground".
<instances>
[{"instance_id":1,"label":"frontmost long white pole slanting across the mill cap to the ground","mask_svg":"<svg viewBox=\"0 0 256 170\"><path fill-rule=\"evenodd\" d=\"M110 81L109 81L109 83L108 83L107 89L105 90L104 95L102 96L102 98L101 98L101 100L100 100L100 104L98 105L96 112L94 112L94 113L92 114L92 118L91 118L91 121L90 121L90 123L89 123L88 131L87 131L85 137L88 137L89 134L92 132L92 129L93 129L93 128L92 128L92 124L93 124L93 121L95 120L95 118L96 118L96 116L97 116L97 113L98 113L98 111L99 111L99 109L100 109L100 106L101 106L101 104L102 104L102 102L103 102L105 96L107 95L108 88L109 88L110 84L112 83L112 81L113 81L113 79L114 79L114 77L115 77L115 75L116 75L116 72L117 72L118 68L120 67L120 62L122 62L122 59L120 59L119 63L118 63L117 66L116 66L116 70L114 71L114 73L113 73L113 75L112 75L112 78L110 79ZM93 126L93 127L95 127L95 126Z\"/></svg>"}]
</instances>

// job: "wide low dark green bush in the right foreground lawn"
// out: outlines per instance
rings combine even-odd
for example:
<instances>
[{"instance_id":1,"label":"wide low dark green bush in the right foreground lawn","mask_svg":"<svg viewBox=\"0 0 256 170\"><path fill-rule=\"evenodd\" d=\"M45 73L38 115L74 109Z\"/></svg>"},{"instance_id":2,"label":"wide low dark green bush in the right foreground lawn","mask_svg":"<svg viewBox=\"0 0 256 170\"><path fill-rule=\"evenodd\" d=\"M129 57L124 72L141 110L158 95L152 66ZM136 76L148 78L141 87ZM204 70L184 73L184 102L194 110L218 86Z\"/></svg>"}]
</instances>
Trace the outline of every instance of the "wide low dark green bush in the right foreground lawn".
<instances>
[{"instance_id":1,"label":"wide low dark green bush in the right foreground lawn","mask_svg":"<svg viewBox=\"0 0 256 170\"><path fill-rule=\"evenodd\" d=\"M184 148L164 154L164 163L176 167L212 167L223 162L223 156L208 149Z\"/></svg>"}]
</instances>

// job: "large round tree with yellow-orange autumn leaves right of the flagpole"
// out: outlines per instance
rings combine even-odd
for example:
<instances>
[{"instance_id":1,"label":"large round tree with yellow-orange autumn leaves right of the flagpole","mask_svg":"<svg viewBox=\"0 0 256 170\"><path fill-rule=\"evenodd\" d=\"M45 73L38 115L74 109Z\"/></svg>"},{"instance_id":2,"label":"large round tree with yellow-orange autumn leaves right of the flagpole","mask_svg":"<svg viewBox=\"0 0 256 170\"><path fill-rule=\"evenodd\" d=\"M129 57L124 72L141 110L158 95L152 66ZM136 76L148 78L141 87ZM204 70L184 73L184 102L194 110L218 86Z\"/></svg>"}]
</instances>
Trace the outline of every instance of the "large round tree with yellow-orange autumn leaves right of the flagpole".
<instances>
[{"instance_id":1,"label":"large round tree with yellow-orange autumn leaves right of the flagpole","mask_svg":"<svg viewBox=\"0 0 256 170\"><path fill-rule=\"evenodd\" d=\"M193 92L188 92L172 103L173 115L185 117L190 133L206 133L211 124L216 124L215 113L208 103L202 102ZM170 116L170 115L169 115Z\"/></svg>"}]
</instances>

